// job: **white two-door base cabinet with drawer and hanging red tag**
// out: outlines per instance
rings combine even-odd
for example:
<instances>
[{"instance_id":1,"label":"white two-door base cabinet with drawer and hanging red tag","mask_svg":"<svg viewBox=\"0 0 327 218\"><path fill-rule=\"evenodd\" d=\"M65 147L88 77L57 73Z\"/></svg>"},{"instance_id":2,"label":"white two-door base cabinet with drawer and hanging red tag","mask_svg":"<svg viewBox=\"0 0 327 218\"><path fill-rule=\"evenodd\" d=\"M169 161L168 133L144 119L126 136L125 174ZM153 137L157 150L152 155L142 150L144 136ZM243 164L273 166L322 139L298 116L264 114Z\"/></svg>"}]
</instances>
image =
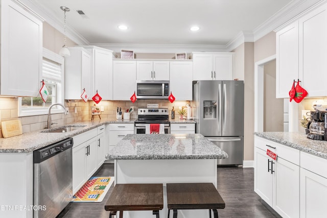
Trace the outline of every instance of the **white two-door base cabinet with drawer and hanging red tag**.
<instances>
[{"instance_id":1,"label":"white two-door base cabinet with drawer and hanging red tag","mask_svg":"<svg viewBox=\"0 0 327 218\"><path fill-rule=\"evenodd\" d=\"M283 217L299 217L299 151L255 136L254 191ZM273 160L267 149L277 154Z\"/></svg>"}]
</instances>

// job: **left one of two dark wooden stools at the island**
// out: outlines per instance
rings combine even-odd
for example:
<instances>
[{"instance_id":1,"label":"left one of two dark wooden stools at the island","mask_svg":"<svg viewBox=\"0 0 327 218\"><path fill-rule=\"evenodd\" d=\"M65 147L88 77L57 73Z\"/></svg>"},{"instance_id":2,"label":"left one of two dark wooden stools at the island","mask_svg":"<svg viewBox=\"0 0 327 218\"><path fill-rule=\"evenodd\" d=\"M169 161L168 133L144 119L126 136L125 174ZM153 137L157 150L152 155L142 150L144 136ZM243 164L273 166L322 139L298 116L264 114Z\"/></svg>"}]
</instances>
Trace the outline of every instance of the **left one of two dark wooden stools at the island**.
<instances>
[{"instance_id":1,"label":"left one of two dark wooden stools at the island","mask_svg":"<svg viewBox=\"0 0 327 218\"><path fill-rule=\"evenodd\" d=\"M109 218L116 215L123 218L123 211L152 210L159 218L159 210L164 208L162 184L116 184L104 208L110 211Z\"/></svg>"}]
</instances>

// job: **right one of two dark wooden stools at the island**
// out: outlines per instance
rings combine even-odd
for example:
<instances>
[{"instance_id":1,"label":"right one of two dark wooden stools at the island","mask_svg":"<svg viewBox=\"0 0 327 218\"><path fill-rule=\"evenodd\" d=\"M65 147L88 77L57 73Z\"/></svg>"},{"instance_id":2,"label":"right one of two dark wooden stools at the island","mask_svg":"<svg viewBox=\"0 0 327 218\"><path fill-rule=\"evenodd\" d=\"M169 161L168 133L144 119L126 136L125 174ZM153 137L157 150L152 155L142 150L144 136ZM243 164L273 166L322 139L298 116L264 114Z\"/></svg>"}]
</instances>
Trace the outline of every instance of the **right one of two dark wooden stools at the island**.
<instances>
[{"instance_id":1,"label":"right one of two dark wooden stools at the island","mask_svg":"<svg viewBox=\"0 0 327 218\"><path fill-rule=\"evenodd\" d=\"M213 183L167 183L168 218L173 210L173 218L177 218L177 210L209 209L218 218L217 209L224 209L225 202Z\"/></svg>"}]
</instances>

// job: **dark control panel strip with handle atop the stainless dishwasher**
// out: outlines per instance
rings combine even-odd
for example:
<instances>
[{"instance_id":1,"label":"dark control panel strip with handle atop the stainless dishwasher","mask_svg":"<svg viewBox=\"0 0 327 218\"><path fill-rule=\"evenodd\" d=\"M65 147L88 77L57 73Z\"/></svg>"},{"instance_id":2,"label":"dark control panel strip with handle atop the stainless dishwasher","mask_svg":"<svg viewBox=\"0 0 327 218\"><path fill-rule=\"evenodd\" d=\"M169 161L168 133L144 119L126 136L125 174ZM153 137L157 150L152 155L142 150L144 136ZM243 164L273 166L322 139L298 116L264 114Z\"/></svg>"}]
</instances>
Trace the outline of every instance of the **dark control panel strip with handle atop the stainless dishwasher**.
<instances>
[{"instance_id":1,"label":"dark control panel strip with handle atop the stainless dishwasher","mask_svg":"<svg viewBox=\"0 0 327 218\"><path fill-rule=\"evenodd\" d=\"M66 138L33 152L33 163L41 163L56 154L73 147L73 138Z\"/></svg>"}]
</instances>

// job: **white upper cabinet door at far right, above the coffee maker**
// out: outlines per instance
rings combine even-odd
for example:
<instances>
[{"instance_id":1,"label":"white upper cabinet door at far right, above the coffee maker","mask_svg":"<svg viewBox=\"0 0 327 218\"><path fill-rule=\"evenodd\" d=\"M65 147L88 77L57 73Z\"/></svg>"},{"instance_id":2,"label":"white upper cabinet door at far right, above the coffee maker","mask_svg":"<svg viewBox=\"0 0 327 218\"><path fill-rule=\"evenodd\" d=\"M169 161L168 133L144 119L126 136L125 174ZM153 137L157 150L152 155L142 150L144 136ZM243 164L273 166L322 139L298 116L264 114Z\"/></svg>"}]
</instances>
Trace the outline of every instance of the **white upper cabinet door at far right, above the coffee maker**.
<instances>
[{"instance_id":1,"label":"white upper cabinet door at far right, above the coffee maker","mask_svg":"<svg viewBox=\"0 0 327 218\"><path fill-rule=\"evenodd\" d=\"M308 96L327 95L326 23L326 4L299 19L299 78Z\"/></svg>"}]
</instances>

